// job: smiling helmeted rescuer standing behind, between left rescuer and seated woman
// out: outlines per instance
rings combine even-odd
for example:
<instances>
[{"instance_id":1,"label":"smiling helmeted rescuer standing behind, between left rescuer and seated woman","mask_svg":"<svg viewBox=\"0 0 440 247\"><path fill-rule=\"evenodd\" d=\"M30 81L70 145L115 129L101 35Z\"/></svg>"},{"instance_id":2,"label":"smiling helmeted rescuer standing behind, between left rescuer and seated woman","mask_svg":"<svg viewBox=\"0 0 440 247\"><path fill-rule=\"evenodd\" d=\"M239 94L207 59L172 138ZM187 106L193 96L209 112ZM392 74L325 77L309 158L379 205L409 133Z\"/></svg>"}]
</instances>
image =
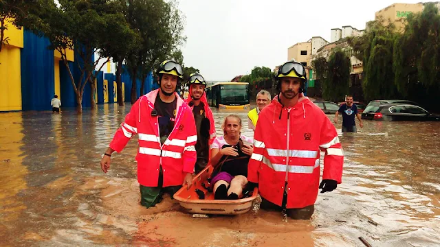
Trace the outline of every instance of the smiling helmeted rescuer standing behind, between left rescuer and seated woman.
<instances>
[{"instance_id":1,"label":"smiling helmeted rescuer standing behind, between left rescuer and seated woman","mask_svg":"<svg viewBox=\"0 0 440 247\"><path fill-rule=\"evenodd\" d=\"M195 125L197 126L197 143L195 150L197 151L197 161L195 163L195 174L203 170L209 161L210 145L214 141L215 126L212 110L209 108L206 99L206 81L203 76L196 72L190 74L188 79L189 97L186 103L192 108Z\"/></svg>"}]
</instances>

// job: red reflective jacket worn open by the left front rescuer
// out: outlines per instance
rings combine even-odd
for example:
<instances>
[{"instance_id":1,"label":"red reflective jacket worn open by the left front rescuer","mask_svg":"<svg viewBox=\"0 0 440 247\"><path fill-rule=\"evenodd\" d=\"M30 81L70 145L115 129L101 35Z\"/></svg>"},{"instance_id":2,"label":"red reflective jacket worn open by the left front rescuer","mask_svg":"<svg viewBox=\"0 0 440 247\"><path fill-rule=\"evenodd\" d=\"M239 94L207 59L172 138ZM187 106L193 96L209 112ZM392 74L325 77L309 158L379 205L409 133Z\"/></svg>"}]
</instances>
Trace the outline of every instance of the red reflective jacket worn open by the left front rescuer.
<instances>
[{"instance_id":1,"label":"red reflective jacket worn open by the left front rescuer","mask_svg":"<svg viewBox=\"0 0 440 247\"><path fill-rule=\"evenodd\" d=\"M146 187L157 186L162 164L163 186L181 185L187 172L194 171L197 154L197 130L190 107L177 97L175 128L161 145L158 117L151 116L159 89L143 95L131 107L125 121L116 131L110 148L121 152L133 134L138 135L137 180Z\"/></svg>"}]
</instances>

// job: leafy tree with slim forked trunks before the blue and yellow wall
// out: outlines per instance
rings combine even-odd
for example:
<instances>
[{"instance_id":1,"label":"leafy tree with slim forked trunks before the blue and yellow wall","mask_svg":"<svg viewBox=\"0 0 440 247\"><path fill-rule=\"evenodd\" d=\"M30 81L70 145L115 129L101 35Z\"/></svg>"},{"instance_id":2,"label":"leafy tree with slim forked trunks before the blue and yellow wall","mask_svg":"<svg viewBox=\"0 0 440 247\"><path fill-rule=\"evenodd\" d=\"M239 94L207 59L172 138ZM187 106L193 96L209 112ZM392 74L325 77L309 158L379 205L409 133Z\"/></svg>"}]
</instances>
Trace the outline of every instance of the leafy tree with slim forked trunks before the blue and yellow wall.
<instances>
[{"instance_id":1,"label":"leafy tree with slim forked trunks before the blue and yellow wall","mask_svg":"<svg viewBox=\"0 0 440 247\"><path fill-rule=\"evenodd\" d=\"M78 110L81 110L87 82L94 82L96 67L111 54L109 44L123 43L123 38L133 40L133 35L120 35L124 32L126 23L120 9L113 1L58 0L58 5L53 1L47 1L43 9L36 14L39 19L29 28L50 40L49 49L55 49L61 53L61 60L74 86ZM107 40L108 34L114 36ZM129 42L124 43L124 46L129 46ZM68 49L74 50L76 54L74 66L80 71L79 78L74 78L74 73L69 67ZM96 51L98 58L94 60ZM94 92L94 83L90 86ZM122 99L121 89L118 90L118 99ZM91 103L94 107L93 97L91 97Z\"/></svg>"}]
</instances>

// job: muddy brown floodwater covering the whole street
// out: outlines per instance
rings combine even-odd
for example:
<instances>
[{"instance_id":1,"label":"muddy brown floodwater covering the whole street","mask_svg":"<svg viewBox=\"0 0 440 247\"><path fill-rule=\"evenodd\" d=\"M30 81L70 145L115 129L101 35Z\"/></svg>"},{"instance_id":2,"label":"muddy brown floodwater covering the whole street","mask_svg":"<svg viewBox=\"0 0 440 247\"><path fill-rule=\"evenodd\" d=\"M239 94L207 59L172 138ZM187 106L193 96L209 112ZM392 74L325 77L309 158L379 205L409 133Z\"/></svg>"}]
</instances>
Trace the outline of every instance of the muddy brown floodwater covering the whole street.
<instances>
[{"instance_id":1,"label":"muddy brown floodwater covering the whole street","mask_svg":"<svg viewBox=\"0 0 440 247\"><path fill-rule=\"evenodd\" d=\"M319 194L310 221L258 203L244 215L199 219L169 197L140 206L137 137L101 171L130 108L0 113L0 246L364 246L359 237L372 246L440 246L440 122L364 121L342 134L340 118L342 185ZM247 112L213 110L217 134L238 113L253 136Z\"/></svg>"}]
</instances>

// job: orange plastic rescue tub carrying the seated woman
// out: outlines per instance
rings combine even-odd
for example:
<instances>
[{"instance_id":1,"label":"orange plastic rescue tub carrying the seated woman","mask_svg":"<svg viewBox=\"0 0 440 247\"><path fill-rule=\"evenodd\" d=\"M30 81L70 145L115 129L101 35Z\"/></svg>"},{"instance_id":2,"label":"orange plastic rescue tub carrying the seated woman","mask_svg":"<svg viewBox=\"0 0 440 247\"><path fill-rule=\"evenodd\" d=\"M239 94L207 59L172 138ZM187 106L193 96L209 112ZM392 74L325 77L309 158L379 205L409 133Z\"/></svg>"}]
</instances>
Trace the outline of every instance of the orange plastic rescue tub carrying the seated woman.
<instances>
[{"instance_id":1,"label":"orange plastic rescue tub carrying the seated woman","mask_svg":"<svg viewBox=\"0 0 440 247\"><path fill-rule=\"evenodd\" d=\"M252 202L256 199L256 196L258 196L259 193L257 188L254 189L252 196L248 198L242 198L239 200L214 200L214 194L208 192L208 190L203 187L203 183L208 185L208 178L212 171L213 167L208 165L192 179L192 185L189 189L184 186L174 194L174 199L179 201L181 207L188 211L188 213L201 213L207 215L238 215L247 213L252 209ZM205 193L205 199L199 199L196 189Z\"/></svg>"}]
</instances>

